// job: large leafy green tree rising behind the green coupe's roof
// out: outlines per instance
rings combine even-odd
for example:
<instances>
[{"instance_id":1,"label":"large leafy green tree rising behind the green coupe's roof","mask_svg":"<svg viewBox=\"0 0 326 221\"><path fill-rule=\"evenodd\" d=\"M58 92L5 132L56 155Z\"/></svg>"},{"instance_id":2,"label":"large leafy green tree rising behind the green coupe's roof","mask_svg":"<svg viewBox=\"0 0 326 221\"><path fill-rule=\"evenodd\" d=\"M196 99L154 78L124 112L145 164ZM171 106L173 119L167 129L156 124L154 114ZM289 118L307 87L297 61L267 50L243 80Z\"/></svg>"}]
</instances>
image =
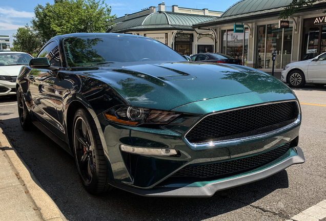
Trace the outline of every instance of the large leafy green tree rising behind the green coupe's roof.
<instances>
[{"instance_id":1,"label":"large leafy green tree rising behind the green coupe's roof","mask_svg":"<svg viewBox=\"0 0 326 221\"><path fill-rule=\"evenodd\" d=\"M106 32L116 17L103 0L54 0L54 4L37 5L33 27L43 41L55 35L78 32Z\"/></svg>"}]
</instances>

